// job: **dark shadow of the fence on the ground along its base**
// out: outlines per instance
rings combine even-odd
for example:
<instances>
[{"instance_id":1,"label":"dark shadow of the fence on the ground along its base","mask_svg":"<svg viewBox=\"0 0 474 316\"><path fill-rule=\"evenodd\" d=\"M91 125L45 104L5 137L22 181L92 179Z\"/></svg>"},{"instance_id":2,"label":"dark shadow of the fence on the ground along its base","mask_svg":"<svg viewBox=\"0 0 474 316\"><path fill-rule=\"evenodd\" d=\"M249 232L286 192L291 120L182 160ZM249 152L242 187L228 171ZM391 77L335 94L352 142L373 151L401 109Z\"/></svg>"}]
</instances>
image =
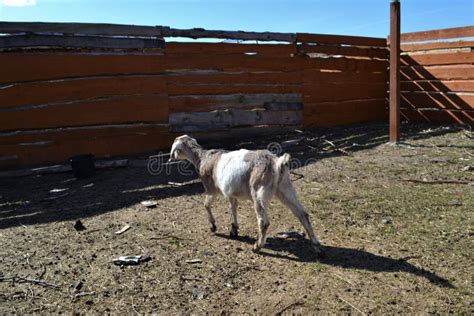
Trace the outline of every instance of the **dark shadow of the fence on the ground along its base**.
<instances>
[{"instance_id":1,"label":"dark shadow of the fence on the ground along its base","mask_svg":"<svg viewBox=\"0 0 474 316\"><path fill-rule=\"evenodd\" d=\"M406 140L429 138L459 131L455 126L406 125ZM328 148L328 142L355 152L373 148L388 141L387 124L353 125L332 129L294 131L271 137L255 137L251 141L221 141L203 144L206 148L225 147L266 148L271 142L284 144L286 140L304 138L303 143L282 146L300 161L315 163L321 159L341 155ZM226 144L225 146L222 146ZM308 160L311 158L311 160ZM146 165L101 171L88 180L76 180L72 174L54 174L22 178L0 178L0 229L19 225L33 225L56 221L71 221L120 210L143 200L196 195L203 192L202 185L193 181L195 176L179 174L152 175ZM169 185L169 181L186 182L185 185ZM51 193L53 189L59 192ZM64 191L61 191L65 189ZM56 190L58 191L58 190Z\"/></svg>"}]
</instances>

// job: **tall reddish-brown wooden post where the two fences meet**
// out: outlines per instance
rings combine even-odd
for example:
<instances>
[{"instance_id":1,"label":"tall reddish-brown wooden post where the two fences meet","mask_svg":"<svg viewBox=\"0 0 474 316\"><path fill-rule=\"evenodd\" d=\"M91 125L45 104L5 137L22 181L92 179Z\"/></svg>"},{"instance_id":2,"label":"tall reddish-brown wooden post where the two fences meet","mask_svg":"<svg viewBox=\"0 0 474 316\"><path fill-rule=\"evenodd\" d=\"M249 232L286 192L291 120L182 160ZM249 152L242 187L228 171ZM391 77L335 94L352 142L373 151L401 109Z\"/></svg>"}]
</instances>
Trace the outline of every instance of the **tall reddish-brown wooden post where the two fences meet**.
<instances>
[{"instance_id":1,"label":"tall reddish-brown wooden post where the two fences meet","mask_svg":"<svg viewBox=\"0 0 474 316\"><path fill-rule=\"evenodd\" d=\"M400 0L390 1L390 142L400 140Z\"/></svg>"}]
</instances>

